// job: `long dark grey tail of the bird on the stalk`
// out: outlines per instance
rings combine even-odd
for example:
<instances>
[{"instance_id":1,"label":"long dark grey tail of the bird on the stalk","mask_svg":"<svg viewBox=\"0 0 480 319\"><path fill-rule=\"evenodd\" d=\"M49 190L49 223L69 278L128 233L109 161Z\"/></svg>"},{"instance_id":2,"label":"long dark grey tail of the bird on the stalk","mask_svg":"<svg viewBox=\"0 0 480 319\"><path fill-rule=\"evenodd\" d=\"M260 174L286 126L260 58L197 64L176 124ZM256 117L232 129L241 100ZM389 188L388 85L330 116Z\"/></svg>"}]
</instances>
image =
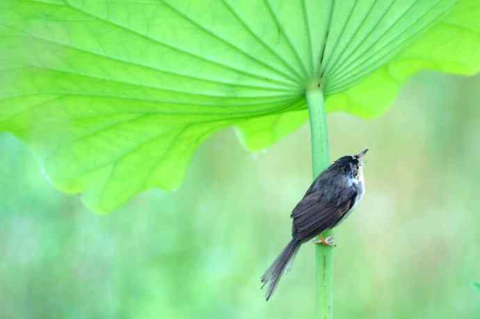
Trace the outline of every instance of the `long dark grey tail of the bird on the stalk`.
<instances>
[{"instance_id":1,"label":"long dark grey tail of the bird on the stalk","mask_svg":"<svg viewBox=\"0 0 480 319\"><path fill-rule=\"evenodd\" d=\"M266 291L267 301L270 299L273 291L275 291L275 288L277 288L278 281L280 281L280 277L282 277L283 272L285 272L285 268L287 268L289 261L291 261L291 258L295 256L296 252L298 252L300 244L301 243L296 238L291 238L287 247L282 250L277 259L273 261L273 264L262 276L262 288L264 288L266 284L269 284L269 288Z\"/></svg>"}]
</instances>

